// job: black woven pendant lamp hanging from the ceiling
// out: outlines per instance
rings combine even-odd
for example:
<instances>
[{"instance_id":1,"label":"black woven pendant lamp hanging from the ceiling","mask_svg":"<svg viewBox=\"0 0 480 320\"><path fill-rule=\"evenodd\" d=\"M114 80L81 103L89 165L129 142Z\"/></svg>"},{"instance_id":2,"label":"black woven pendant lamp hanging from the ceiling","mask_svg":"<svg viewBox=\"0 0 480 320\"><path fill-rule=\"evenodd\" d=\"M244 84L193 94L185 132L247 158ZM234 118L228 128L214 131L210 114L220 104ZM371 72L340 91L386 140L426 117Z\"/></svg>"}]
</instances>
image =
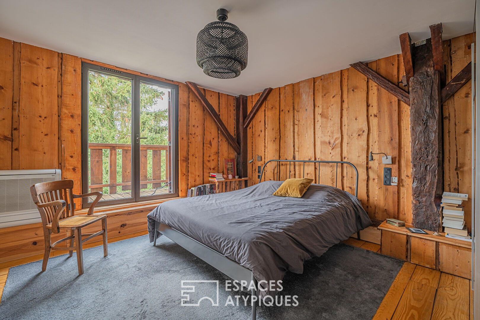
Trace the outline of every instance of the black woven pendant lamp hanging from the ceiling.
<instances>
[{"instance_id":1,"label":"black woven pendant lamp hanging from the ceiling","mask_svg":"<svg viewBox=\"0 0 480 320\"><path fill-rule=\"evenodd\" d=\"M213 78L231 79L240 75L248 63L248 39L235 24L225 22L226 9L216 11L211 22L197 35L197 64Z\"/></svg>"}]
</instances>

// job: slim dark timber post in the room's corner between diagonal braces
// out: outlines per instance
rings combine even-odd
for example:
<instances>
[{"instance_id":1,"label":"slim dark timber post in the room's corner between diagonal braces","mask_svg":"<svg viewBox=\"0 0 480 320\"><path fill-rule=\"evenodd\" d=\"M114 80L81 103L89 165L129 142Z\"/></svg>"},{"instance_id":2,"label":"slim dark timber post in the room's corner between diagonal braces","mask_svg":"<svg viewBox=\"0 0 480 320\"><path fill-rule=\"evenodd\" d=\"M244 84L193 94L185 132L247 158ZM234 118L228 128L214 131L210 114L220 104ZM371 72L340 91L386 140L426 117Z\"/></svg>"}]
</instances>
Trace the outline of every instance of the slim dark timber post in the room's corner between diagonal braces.
<instances>
[{"instance_id":1,"label":"slim dark timber post in the room's corner between diagonal braces","mask_svg":"<svg viewBox=\"0 0 480 320\"><path fill-rule=\"evenodd\" d=\"M247 118L247 96L246 95L239 95L235 98L235 113L236 119L235 122L236 133L237 133L237 143L240 146L240 154L236 154L237 159L237 166L238 166L238 176L240 178L247 178L248 175L248 166L247 166L247 155L248 155L248 148L247 148L247 128L243 127L243 122L245 118ZM245 182L246 183L246 182Z\"/></svg>"}]
</instances>

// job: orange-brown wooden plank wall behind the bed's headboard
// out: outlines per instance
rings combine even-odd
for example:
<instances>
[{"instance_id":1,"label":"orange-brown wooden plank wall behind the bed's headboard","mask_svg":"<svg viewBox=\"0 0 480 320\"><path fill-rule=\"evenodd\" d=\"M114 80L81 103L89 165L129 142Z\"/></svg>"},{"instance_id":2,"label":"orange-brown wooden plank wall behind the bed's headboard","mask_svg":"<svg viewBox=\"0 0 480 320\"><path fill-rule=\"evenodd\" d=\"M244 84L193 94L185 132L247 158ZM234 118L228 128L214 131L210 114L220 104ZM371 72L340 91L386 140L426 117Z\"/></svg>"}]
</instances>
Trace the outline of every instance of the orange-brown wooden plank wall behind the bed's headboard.
<instances>
[{"instance_id":1,"label":"orange-brown wooden plank wall behind the bed's headboard","mask_svg":"<svg viewBox=\"0 0 480 320\"><path fill-rule=\"evenodd\" d=\"M447 82L470 61L472 34L444 41ZM368 63L394 83L405 71L401 54ZM403 86L400 87L403 88ZM445 147L445 190L471 193L471 84L467 83L443 106ZM248 97L249 107L260 94ZM276 119L279 119L277 121ZM353 68L324 74L274 89L249 126L249 159L260 154L262 161L249 166L250 184L258 183L257 166L269 159L343 160L359 170L359 199L375 220L398 218L411 223L411 162L409 107ZM271 133L270 133L271 132ZM277 133L275 139L273 134ZM393 157L383 165L380 155L368 161L370 150ZM256 160L256 159L255 159ZM398 186L384 186L383 168L391 167ZM271 179L274 166L267 167ZM315 180L317 168L305 167L305 177ZM303 168L291 167L291 177L302 177ZM288 178L288 165L280 167ZM250 174L252 173L252 174ZM354 193L355 175L343 166L338 186ZM322 165L320 182L335 185L336 167ZM470 227L469 203L465 205Z\"/></svg>"}]
</instances>

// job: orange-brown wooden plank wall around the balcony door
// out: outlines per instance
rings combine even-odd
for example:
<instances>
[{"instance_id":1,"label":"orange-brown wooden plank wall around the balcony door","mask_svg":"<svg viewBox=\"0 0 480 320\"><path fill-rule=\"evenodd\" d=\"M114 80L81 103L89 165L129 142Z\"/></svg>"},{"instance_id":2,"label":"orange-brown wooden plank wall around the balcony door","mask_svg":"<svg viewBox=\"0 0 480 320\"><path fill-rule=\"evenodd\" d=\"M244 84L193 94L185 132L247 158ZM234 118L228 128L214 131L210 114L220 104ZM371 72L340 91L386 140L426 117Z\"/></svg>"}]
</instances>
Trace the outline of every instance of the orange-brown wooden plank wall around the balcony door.
<instances>
[{"instance_id":1,"label":"orange-brown wooden plank wall around the balcony door","mask_svg":"<svg viewBox=\"0 0 480 320\"><path fill-rule=\"evenodd\" d=\"M81 193L83 60L115 68L0 38L0 170L59 168L63 179L73 179L73 191ZM210 172L223 172L223 158L234 158L235 152L188 86L176 84L179 191L180 196L186 196L188 188L207 183ZM235 135L235 97L211 90L204 92ZM76 202L77 208L80 205ZM130 207L108 213L108 236L124 237L146 231L146 215L154 207ZM0 263L43 252L40 224L3 228L0 234Z\"/></svg>"}]
</instances>

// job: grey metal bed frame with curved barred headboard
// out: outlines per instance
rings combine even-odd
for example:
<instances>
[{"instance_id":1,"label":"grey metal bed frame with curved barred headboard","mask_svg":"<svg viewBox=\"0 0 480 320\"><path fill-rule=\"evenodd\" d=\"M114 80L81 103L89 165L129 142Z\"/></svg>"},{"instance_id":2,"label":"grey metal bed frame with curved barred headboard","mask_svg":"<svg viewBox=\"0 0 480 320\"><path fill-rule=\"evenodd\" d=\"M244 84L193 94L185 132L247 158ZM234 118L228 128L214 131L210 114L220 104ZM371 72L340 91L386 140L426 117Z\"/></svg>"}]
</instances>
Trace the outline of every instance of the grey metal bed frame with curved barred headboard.
<instances>
[{"instance_id":1,"label":"grey metal bed frame with curved barred headboard","mask_svg":"<svg viewBox=\"0 0 480 320\"><path fill-rule=\"evenodd\" d=\"M290 178L290 173L291 173L291 164L294 163L294 169L296 168L295 163L303 163L303 168L302 168L302 177L305 177L305 163L313 163L318 164L319 170L318 170L318 181L320 181L320 164L336 164L336 173L338 173L338 165L348 165L351 166L355 170L355 197L358 195L358 184L359 184L359 172L357 168L351 164L350 162L347 161L321 161L321 160L279 160L279 159L273 159L273 160L268 160L265 162L264 166L262 167L262 172L260 174L260 178L258 182L262 181L262 177L264 175L264 169L265 166L269 163L276 163L277 167L277 174L276 174L276 181L280 181L280 163L282 162L288 162L288 178ZM300 165L301 166L301 165ZM297 170L300 170L300 166L298 167ZM299 175L297 175L298 177ZM338 179L338 174L336 174L335 178L335 187L337 186L337 179ZM235 262L228 257L224 256L220 252L217 252L214 249L211 249L207 246L205 246L203 243L193 239L192 237L189 237L180 231L168 226L164 225L158 221L155 222L155 235L154 235L154 242L153 245L156 246L156 238L158 234L164 235L165 237L168 237L170 240L173 242L177 243L180 247L187 249L190 251L192 254L197 256L198 258L202 259L206 263L210 264L212 267L217 269L218 271L226 274L228 277L232 278L233 280L238 281L241 283L242 281L246 281L247 283L251 283L253 281L255 283L255 286L257 284L257 281L255 277L253 276L252 270L245 268L244 266L240 265L238 262ZM357 233L357 237L360 239L360 233ZM257 292L255 289L252 289L252 297L256 296ZM252 301L252 300L250 300ZM256 303L252 303L252 320L256 320L257 313L256 313Z\"/></svg>"}]
</instances>

